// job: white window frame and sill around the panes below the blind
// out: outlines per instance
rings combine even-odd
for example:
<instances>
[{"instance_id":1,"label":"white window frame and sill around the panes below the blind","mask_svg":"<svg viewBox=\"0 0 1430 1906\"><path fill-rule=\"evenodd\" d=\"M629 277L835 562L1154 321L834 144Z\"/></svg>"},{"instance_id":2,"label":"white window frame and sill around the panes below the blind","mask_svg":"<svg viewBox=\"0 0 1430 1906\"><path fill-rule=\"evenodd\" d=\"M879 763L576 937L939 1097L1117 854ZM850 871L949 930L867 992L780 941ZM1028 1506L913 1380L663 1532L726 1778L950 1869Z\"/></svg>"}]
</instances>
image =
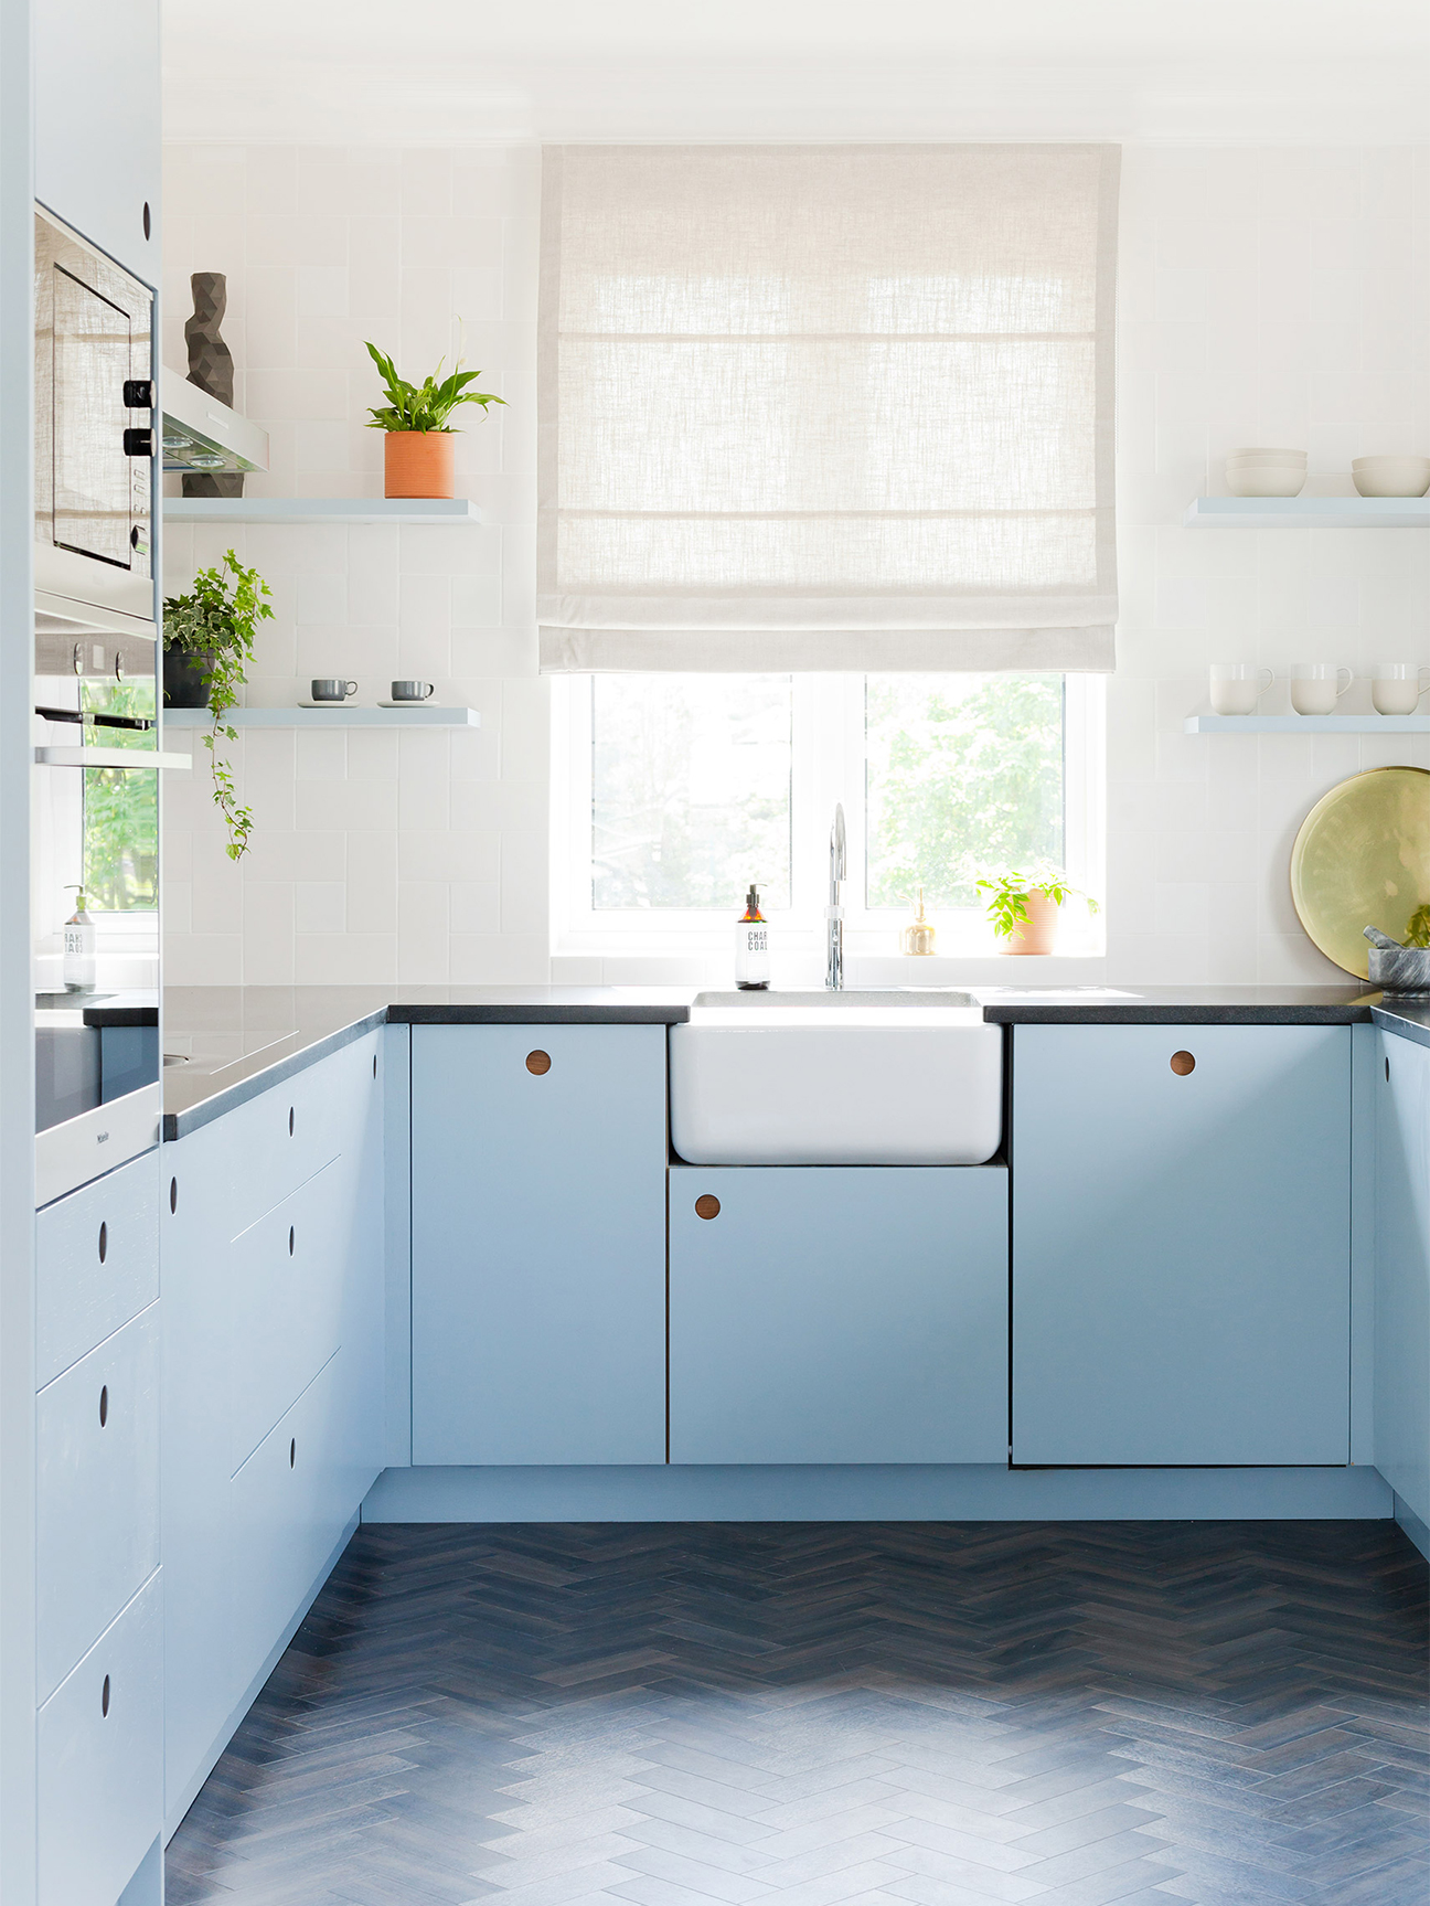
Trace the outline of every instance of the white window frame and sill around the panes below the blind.
<instances>
[{"instance_id":1,"label":"white window frame and sill around the panes below the blind","mask_svg":"<svg viewBox=\"0 0 1430 1906\"><path fill-rule=\"evenodd\" d=\"M591 677L551 679L551 951L557 957L704 957L728 951L730 907L675 911L591 907ZM822 955L829 823L843 802L848 837L845 945L890 953L909 909L868 907L864 799L864 677L793 675L791 903L766 909L776 951ZM1106 892L1106 679L1064 679L1066 869L1098 903ZM982 959L997 951L976 907L932 911L940 955ZM1070 903L1060 957L1098 959L1104 913Z\"/></svg>"}]
</instances>

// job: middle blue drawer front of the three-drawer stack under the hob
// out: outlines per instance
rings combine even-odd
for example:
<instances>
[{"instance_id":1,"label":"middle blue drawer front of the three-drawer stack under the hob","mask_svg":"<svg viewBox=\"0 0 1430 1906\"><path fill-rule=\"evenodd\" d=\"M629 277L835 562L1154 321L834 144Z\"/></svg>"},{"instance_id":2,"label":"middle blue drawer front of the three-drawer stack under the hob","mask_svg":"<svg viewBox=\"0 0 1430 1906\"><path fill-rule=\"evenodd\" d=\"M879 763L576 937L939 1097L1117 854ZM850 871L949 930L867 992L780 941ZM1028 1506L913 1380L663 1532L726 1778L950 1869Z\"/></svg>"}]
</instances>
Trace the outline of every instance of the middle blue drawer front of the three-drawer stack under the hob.
<instances>
[{"instance_id":1,"label":"middle blue drawer front of the three-drawer stack under the hob","mask_svg":"<svg viewBox=\"0 0 1430 1906\"><path fill-rule=\"evenodd\" d=\"M231 1247L229 1470L238 1470L341 1342L357 1172L345 1159Z\"/></svg>"}]
</instances>

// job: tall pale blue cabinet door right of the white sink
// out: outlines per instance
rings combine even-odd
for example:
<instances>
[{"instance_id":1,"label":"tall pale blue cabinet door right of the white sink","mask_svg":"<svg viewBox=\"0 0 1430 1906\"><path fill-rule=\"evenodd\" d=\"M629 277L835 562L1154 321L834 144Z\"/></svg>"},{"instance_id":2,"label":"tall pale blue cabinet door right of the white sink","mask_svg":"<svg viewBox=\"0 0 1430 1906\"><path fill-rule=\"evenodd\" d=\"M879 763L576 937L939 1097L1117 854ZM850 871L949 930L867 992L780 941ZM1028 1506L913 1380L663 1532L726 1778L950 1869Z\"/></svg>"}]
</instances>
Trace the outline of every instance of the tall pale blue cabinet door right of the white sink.
<instances>
[{"instance_id":1,"label":"tall pale blue cabinet door right of the white sink","mask_svg":"<svg viewBox=\"0 0 1430 1906\"><path fill-rule=\"evenodd\" d=\"M1011 1163L1014 1464L1350 1460L1348 1025L1018 1025Z\"/></svg>"}]
</instances>

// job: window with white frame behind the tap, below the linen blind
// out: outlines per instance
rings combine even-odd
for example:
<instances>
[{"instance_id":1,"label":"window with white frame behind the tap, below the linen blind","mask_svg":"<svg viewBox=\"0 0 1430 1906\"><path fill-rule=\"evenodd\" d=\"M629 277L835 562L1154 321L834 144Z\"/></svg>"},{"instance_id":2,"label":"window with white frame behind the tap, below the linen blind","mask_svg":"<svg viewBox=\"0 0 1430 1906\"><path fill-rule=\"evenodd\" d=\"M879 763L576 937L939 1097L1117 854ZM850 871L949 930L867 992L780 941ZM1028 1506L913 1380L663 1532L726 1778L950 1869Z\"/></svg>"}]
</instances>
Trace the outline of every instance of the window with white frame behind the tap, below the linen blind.
<instances>
[{"instance_id":1,"label":"window with white frame behind the tap, below the linen blind","mask_svg":"<svg viewBox=\"0 0 1430 1906\"><path fill-rule=\"evenodd\" d=\"M570 675L553 680L557 953L728 945L746 888L776 947L822 934L848 823L847 936L894 951L915 890L940 953L995 951L972 877L1052 862L1104 890L1096 675ZM1102 951L1068 909L1066 953Z\"/></svg>"}]
</instances>

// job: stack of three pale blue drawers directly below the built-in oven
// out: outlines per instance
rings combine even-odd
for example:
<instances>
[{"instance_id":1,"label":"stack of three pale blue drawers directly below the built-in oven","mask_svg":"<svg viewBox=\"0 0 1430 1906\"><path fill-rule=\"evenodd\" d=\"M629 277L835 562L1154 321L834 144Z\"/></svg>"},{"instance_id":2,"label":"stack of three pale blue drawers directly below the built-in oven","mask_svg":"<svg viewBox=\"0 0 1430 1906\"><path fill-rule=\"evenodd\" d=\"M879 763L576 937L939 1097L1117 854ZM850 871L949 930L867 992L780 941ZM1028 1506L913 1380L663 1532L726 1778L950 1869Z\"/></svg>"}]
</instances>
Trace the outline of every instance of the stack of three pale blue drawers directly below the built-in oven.
<instances>
[{"instance_id":1,"label":"stack of three pale blue drawers directly below the built-in oven","mask_svg":"<svg viewBox=\"0 0 1430 1906\"><path fill-rule=\"evenodd\" d=\"M34 1224L40 1906L114 1900L162 1826L158 1155ZM137 1885L139 1881L135 1881ZM133 1896L133 1895L132 1895ZM151 1887L147 1896L158 1896Z\"/></svg>"}]
</instances>

